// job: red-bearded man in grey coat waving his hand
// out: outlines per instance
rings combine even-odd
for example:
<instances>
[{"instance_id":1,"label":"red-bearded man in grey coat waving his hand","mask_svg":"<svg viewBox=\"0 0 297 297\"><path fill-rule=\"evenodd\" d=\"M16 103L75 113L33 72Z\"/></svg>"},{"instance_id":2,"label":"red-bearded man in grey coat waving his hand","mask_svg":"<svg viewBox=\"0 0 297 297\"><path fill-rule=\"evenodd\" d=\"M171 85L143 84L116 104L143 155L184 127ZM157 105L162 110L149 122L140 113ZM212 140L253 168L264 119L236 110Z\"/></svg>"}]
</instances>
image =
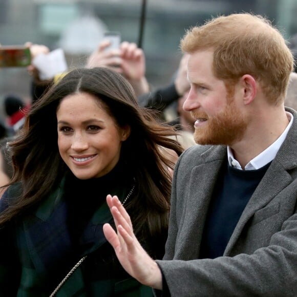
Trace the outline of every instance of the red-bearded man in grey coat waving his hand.
<instances>
[{"instance_id":1,"label":"red-bearded man in grey coat waving his hand","mask_svg":"<svg viewBox=\"0 0 297 297\"><path fill-rule=\"evenodd\" d=\"M162 296L297 296L297 113L284 107L293 57L257 15L219 16L189 30L195 145L174 172L162 261L138 243L117 197L122 266Z\"/></svg>"}]
</instances>

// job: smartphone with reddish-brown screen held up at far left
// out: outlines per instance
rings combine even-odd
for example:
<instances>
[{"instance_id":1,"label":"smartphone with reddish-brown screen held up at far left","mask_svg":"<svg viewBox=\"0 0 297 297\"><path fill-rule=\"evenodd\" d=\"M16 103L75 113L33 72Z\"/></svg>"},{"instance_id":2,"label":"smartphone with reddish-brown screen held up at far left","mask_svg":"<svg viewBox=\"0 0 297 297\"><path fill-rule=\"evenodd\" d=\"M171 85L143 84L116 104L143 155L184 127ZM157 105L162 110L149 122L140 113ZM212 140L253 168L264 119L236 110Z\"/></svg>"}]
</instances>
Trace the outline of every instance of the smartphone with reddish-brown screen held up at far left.
<instances>
[{"instance_id":1,"label":"smartphone with reddish-brown screen held up at far left","mask_svg":"<svg viewBox=\"0 0 297 297\"><path fill-rule=\"evenodd\" d=\"M31 64L31 52L25 46L0 46L0 67L26 67Z\"/></svg>"}]
</instances>

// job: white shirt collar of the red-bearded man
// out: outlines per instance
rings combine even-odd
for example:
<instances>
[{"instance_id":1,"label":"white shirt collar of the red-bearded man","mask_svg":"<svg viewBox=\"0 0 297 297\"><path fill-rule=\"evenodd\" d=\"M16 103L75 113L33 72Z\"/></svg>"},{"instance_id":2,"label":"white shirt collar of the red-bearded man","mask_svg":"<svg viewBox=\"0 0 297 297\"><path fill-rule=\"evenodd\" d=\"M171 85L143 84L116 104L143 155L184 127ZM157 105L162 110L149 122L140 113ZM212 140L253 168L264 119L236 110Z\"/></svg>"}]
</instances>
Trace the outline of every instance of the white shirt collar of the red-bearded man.
<instances>
[{"instance_id":1,"label":"white shirt collar of the red-bearded man","mask_svg":"<svg viewBox=\"0 0 297 297\"><path fill-rule=\"evenodd\" d=\"M291 128L291 125L293 123L293 115L289 112L286 112L288 117L290 117L290 122L287 125L284 132L281 134L281 136L275 140L270 146L267 147L266 150L264 150L262 153L260 153L258 156L254 157L252 160L250 160L244 167L245 170L257 170L259 168L262 168L269 162L271 162L275 155L277 155L281 145L285 141L288 131ZM234 158L234 155L232 153L232 150L229 146L227 146L227 156L228 156L228 163L230 166L235 167L237 169L241 169L241 166L239 162Z\"/></svg>"}]
</instances>

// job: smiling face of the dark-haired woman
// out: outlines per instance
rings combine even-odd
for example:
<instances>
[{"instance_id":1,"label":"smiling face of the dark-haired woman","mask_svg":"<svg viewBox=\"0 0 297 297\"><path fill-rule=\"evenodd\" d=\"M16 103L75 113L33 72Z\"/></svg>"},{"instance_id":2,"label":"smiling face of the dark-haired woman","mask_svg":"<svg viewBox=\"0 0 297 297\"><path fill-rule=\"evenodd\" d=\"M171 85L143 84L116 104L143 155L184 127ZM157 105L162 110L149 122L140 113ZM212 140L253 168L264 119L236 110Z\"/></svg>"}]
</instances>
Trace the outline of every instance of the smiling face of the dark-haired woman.
<instances>
[{"instance_id":1,"label":"smiling face of the dark-haired woman","mask_svg":"<svg viewBox=\"0 0 297 297\"><path fill-rule=\"evenodd\" d=\"M79 179L109 173L130 134L129 128L119 128L98 98L88 93L63 98L57 109L57 123L59 153Z\"/></svg>"}]
</instances>

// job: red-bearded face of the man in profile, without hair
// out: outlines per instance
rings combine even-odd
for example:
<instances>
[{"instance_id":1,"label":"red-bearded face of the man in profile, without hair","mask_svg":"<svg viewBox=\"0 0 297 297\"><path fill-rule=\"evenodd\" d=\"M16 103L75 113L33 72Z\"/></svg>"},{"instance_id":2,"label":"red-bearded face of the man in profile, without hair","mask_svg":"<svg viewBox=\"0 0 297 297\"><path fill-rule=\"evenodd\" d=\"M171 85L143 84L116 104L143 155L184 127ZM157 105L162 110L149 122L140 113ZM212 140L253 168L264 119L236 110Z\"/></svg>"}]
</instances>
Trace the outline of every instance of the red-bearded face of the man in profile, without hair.
<instances>
[{"instance_id":1,"label":"red-bearded face of the man in profile, without hair","mask_svg":"<svg viewBox=\"0 0 297 297\"><path fill-rule=\"evenodd\" d=\"M231 145L240 140L247 120L237 105L240 93L230 97L223 80L212 69L213 51L197 51L189 56L190 91L183 104L195 121L194 138L200 144Z\"/></svg>"}]
</instances>

